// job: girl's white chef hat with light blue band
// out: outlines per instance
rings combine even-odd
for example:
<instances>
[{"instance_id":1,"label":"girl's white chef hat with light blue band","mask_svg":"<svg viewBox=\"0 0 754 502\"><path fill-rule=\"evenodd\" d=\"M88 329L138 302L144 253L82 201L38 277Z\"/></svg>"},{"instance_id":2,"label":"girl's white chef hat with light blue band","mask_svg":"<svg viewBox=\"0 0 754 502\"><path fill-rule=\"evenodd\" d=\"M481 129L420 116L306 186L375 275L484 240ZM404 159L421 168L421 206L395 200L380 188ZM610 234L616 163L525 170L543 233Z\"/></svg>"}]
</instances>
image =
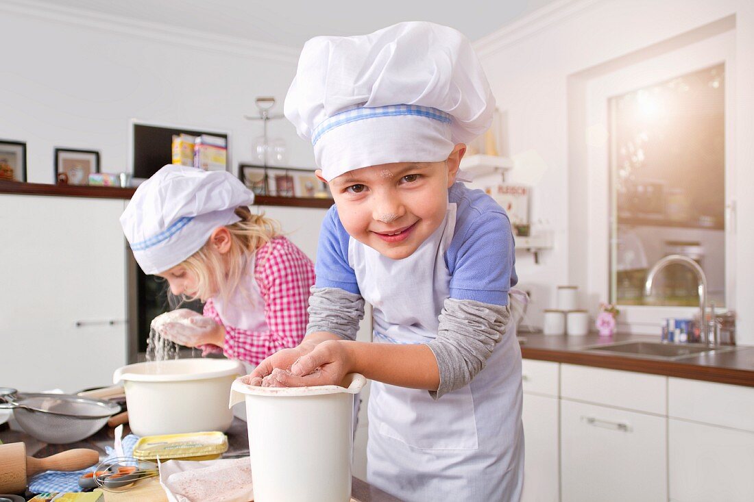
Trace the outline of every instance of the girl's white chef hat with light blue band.
<instances>
[{"instance_id":1,"label":"girl's white chef hat with light blue band","mask_svg":"<svg viewBox=\"0 0 754 502\"><path fill-rule=\"evenodd\" d=\"M196 253L212 231L241 221L254 194L227 171L167 164L136 188L121 225L145 274L159 274Z\"/></svg>"}]
</instances>

